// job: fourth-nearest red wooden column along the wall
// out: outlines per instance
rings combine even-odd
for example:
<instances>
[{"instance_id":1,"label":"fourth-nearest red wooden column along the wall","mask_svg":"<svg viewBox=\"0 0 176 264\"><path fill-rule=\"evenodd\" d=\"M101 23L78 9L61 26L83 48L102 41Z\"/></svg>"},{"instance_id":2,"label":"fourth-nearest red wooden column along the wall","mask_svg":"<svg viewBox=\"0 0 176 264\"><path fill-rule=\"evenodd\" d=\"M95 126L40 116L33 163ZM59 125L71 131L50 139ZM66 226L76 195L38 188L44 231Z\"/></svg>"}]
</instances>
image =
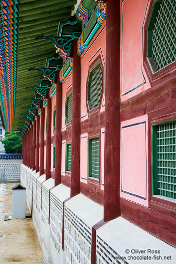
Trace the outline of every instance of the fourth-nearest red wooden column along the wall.
<instances>
[{"instance_id":1,"label":"fourth-nearest red wooden column along the wall","mask_svg":"<svg viewBox=\"0 0 176 264\"><path fill-rule=\"evenodd\" d=\"M51 177L51 98L47 90L46 180Z\"/></svg>"}]
</instances>

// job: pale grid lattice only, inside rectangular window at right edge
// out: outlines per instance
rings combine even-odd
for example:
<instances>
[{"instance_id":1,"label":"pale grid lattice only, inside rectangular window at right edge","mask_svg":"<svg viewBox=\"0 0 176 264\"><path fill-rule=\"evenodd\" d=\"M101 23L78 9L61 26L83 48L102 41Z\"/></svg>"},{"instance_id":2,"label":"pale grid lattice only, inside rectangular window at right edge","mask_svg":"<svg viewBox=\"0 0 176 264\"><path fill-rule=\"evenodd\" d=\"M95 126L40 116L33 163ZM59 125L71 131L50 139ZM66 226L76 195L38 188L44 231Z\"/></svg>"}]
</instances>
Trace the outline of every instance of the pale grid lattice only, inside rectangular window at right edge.
<instances>
[{"instance_id":1,"label":"pale grid lattice only, inside rectangular window at right edge","mask_svg":"<svg viewBox=\"0 0 176 264\"><path fill-rule=\"evenodd\" d=\"M159 187L160 195L176 199L176 122L159 125Z\"/></svg>"}]
</instances>

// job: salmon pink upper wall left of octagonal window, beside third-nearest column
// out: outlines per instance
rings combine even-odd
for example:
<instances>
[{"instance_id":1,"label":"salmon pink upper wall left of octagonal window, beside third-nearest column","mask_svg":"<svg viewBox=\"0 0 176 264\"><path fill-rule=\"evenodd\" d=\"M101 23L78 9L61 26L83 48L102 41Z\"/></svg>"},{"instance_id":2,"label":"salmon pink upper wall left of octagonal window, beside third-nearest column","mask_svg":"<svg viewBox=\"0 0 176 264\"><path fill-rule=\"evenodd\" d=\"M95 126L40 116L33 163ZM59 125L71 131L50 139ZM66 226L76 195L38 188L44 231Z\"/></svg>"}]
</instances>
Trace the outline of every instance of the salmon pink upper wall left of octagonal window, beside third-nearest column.
<instances>
[{"instance_id":1,"label":"salmon pink upper wall left of octagonal window, beside third-nearest column","mask_svg":"<svg viewBox=\"0 0 176 264\"><path fill-rule=\"evenodd\" d=\"M66 130L65 124L65 103L67 92L72 88L72 71L68 78L62 83L62 131Z\"/></svg>"}]
</instances>

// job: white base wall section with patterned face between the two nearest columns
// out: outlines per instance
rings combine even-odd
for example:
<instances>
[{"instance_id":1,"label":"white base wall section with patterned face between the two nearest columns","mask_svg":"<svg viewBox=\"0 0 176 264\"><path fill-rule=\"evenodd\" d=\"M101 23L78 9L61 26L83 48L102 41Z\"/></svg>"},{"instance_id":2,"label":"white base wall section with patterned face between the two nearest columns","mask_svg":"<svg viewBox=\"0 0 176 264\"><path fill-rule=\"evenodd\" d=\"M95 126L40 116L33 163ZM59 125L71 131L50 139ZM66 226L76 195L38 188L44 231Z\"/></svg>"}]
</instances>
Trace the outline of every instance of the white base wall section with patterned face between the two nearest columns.
<instances>
[{"instance_id":1,"label":"white base wall section with patterned face between the two nearest columns","mask_svg":"<svg viewBox=\"0 0 176 264\"><path fill-rule=\"evenodd\" d=\"M66 264L91 263L91 228L103 219L103 206L78 194L65 202L64 252Z\"/></svg>"}]
</instances>

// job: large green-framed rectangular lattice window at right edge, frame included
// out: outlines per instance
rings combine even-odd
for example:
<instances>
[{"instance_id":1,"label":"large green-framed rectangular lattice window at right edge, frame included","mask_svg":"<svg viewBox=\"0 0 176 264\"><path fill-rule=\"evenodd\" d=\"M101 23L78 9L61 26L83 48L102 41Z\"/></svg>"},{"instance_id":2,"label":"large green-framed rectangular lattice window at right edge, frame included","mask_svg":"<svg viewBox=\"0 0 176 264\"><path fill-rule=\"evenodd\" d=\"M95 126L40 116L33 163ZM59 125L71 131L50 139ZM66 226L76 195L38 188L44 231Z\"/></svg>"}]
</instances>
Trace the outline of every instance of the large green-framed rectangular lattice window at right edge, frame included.
<instances>
[{"instance_id":1,"label":"large green-framed rectangular lattice window at right edge, frame included","mask_svg":"<svg viewBox=\"0 0 176 264\"><path fill-rule=\"evenodd\" d=\"M152 126L153 195L176 199L176 121Z\"/></svg>"}]
</instances>

